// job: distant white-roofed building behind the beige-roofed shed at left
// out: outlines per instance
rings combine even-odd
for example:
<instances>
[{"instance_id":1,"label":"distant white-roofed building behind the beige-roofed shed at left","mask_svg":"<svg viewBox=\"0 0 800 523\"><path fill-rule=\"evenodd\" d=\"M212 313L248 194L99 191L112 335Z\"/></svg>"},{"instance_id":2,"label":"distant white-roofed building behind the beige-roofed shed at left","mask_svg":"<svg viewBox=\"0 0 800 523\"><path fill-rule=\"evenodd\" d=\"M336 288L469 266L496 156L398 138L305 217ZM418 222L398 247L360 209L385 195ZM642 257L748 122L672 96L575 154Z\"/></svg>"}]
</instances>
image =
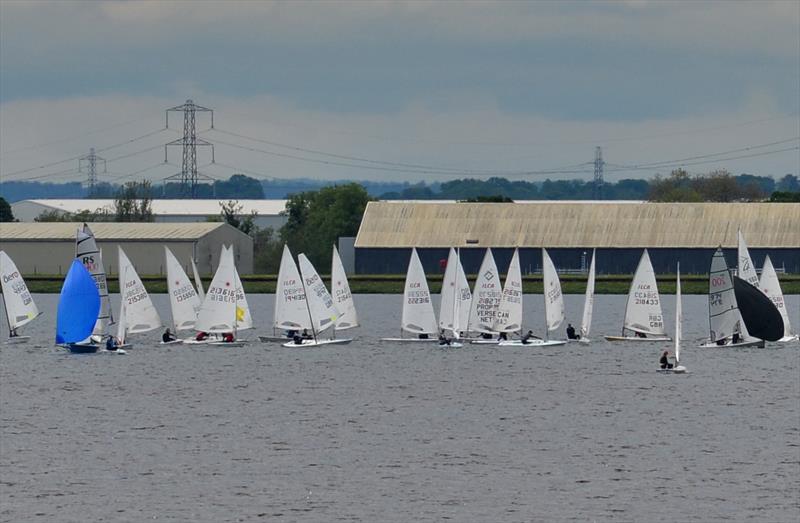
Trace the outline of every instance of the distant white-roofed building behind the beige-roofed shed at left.
<instances>
[{"instance_id":1,"label":"distant white-roofed building behind the beige-roofed shed at left","mask_svg":"<svg viewBox=\"0 0 800 523\"><path fill-rule=\"evenodd\" d=\"M156 222L205 222L218 218L221 204L229 200L150 200L153 219ZM282 213L286 200L235 200L241 206L239 217L255 213L255 224L261 228L282 227L288 219ZM21 222L32 222L44 212L76 214L81 211L104 210L114 213L112 199L41 199L20 200L11 204L14 218Z\"/></svg>"}]
</instances>

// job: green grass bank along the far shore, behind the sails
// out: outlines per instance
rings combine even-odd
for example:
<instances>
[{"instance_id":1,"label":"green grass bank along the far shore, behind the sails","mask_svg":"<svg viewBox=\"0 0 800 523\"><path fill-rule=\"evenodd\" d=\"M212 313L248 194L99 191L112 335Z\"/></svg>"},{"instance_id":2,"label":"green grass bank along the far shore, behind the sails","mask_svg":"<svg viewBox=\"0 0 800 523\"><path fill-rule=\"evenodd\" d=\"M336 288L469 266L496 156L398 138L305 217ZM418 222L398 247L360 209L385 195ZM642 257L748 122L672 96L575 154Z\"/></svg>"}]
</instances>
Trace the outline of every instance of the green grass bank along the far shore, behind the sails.
<instances>
[{"instance_id":1,"label":"green grass bank along the far shore, behind the sails","mask_svg":"<svg viewBox=\"0 0 800 523\"><path fill-rule=\"evenodd\" d=\"M597 276L595 292L597 294L627 294L633 275L605 274ZM248 293L273 293L275 292L277 276L274 274L242 276L245 292ZM324 276L326 281L330 278ZM58 275L29 275L25 281L31 292L58 293L61 291L63 276ZM142 281L151 293L166 293L167 282L163 276L143 276ZM355 294L400 294L403 292L405 282L404 274L389 275L354 275L348 278L350 289ZM469 278L470 285L475 281L474 276ZM675 293L675 275L664 274L657 277L658 289L663 294ZM800 275L780 275L781 288L784 294L800 294ZM203 285L208 286L210 279L204 279ZM433 275L428 278L431 292L439 293L442 286L442 276ZM708 292L708 276L702 274L688 274L681 276L682 291L684 294L706 294ZM119 292L119 282L116 277L108 280L109 291ZM523 277L523 288L526 294L542 293L542 277ZM586 277L583 275L565 274L561 276L561 288L565 294L583 294L586 291Z\"/></svg>"}]
</instances>

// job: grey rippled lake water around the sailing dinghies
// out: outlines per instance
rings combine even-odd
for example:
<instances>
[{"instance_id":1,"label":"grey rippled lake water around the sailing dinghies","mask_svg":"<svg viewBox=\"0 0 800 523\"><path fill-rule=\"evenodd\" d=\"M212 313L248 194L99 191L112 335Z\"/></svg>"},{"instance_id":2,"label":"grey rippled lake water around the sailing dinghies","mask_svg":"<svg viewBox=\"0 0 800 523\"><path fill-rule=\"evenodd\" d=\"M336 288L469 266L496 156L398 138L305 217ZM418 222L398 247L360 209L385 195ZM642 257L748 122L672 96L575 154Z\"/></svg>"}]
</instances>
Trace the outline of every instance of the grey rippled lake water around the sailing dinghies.
<instances>
[{"instance_id":1,"label":"grey rippled lake water around the sailing dinghies","mask_svg":"<svg viewBox=\"0 0 800 523\"><path fill-rule=\"evenodd\" d=\"M800 519L800 345L695 349L705 296L684 297L683 376L655 372L662 346L599 341L624 296L596 297L590 346L381 344L402 297L364 295L350 345L148 333L127 356L54 348L57 296L35 299L36 341L0 348L2 521ZM272 296L248 299L269 333Z\"/></svg>"}]
</instances>

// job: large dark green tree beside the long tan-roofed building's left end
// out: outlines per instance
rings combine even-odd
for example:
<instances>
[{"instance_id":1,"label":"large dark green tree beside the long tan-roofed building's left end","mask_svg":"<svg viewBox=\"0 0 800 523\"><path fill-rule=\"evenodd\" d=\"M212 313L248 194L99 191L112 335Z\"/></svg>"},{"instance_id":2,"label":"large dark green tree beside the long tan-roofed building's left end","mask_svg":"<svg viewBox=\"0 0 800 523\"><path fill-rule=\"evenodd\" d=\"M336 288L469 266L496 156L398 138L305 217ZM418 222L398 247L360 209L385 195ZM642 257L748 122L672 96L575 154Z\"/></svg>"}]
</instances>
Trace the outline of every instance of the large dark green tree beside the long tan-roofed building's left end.
<instances>
[{"instance_id":1,"label":"large dark green tree beside the long tan-roofed building's left end","mask_svg":"<svg viewBox=\"0 0 800 523\"><path fill-rule=\"evenodd\" d=\"M294 253L304 252L316 267L328 267L332 245L340 236L356 235L370 200L357 183L291 195L286 202L288 221L281 227L281 241Z\"/></svg>"}]
</instances>

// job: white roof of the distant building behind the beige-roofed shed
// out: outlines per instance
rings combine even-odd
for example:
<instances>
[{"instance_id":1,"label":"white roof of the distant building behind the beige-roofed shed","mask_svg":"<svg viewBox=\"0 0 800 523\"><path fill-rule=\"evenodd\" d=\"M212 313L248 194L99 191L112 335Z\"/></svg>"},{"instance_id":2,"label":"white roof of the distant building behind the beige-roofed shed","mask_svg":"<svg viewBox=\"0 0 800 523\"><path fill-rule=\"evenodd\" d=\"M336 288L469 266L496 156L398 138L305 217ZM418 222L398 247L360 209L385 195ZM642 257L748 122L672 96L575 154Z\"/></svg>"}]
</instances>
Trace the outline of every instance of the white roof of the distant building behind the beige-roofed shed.
<instances>
[{"instance_id":1,"label":"white roof of the distant building behind the beige-roofed shed","mask_svg":"<svg viewBox=\"0 0 800 523\"><path fill-rule=\"evenodd\" d=\"M218 215L220 212L220 202L222 200L150 200L150 206L155 215L178 215L178 216L211 216ZM237 200L238 205L242 206L242 214L250 214L256 211L259 216L277 216L278 213L286 209L286 200ZM21 200L12 204L22 204L25 202L35 203L51 209L76 213L83 210L95 211L97 209L107 209L114 211L114 200L110 199L38 199Z\"/></svg>"}]
</instances>

